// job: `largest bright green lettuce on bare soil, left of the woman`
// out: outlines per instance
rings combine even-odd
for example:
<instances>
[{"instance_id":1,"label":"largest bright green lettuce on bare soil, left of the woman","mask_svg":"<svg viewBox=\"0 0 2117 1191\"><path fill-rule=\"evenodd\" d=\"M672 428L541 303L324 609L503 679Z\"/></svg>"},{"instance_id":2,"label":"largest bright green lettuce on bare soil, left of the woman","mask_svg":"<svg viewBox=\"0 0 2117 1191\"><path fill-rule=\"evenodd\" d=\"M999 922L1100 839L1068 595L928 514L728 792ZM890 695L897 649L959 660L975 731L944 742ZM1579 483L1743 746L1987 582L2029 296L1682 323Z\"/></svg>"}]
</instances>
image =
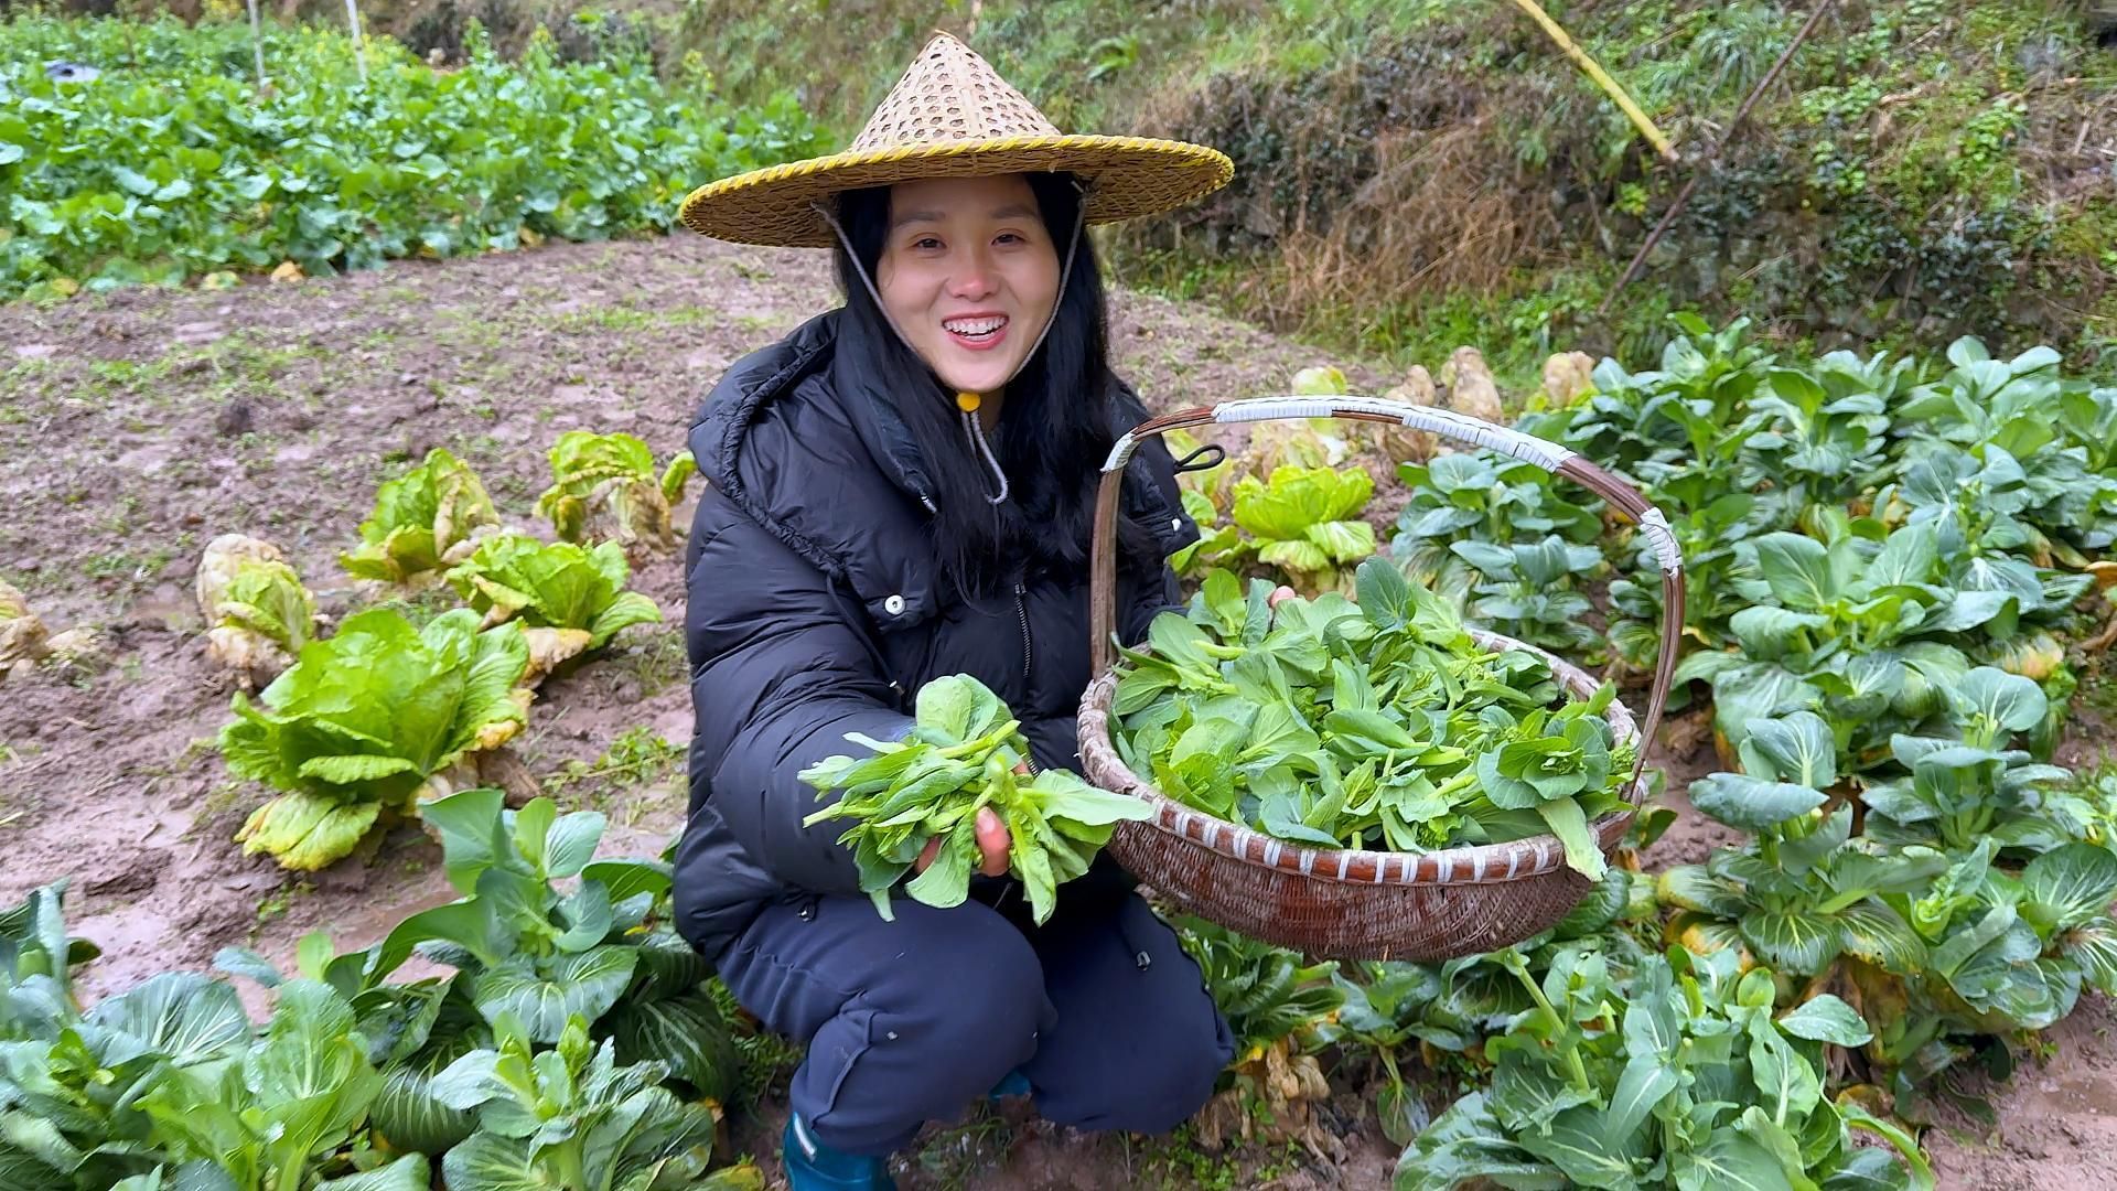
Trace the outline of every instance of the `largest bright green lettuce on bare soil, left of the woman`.
<instances>
[{"instance_id":1,"label":"largest bright green lettuce on bare soil, left of the woman","mask_svg":"<svg viewBox=\"0 0 2117 1191\"><path fill-rule=\"evenodd\" d=\"M519 625L478 629L455 608L413 627L392 608L347 617L252 704L235 695L220 752L279 797L237 839L288 869L322 869L383 818L417 812L421 786L527 721Z\"/></svg>"}]
</instances>

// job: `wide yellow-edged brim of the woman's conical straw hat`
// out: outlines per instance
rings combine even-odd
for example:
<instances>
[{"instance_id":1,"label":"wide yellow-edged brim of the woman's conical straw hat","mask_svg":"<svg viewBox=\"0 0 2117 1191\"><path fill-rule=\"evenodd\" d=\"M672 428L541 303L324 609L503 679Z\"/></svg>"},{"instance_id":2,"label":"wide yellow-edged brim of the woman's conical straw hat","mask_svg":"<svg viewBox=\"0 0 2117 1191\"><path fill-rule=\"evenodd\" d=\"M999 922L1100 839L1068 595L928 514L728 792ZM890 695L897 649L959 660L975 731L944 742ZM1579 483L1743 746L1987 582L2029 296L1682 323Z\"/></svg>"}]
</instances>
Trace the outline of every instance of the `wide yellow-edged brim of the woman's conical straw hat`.
<instances>
[{"instance_id":1,"label":"wide yellow-edged brim of the woman's conical straw hat","mask_svg":"<svg viewBox=\"0 0 2117 1191\"><path fill-rule=\"evenodd\" d=\"M1217 148L1139 136L1018 136L834 153L737 174L684 199L684 227L713 239L775 248L830 248L836 237L811 203L840 191L921 178L1075 174L1088 186L1088 223L1118 223L1192 203L1228 184L1234 161Z\"/></svg>"}]
</instances>

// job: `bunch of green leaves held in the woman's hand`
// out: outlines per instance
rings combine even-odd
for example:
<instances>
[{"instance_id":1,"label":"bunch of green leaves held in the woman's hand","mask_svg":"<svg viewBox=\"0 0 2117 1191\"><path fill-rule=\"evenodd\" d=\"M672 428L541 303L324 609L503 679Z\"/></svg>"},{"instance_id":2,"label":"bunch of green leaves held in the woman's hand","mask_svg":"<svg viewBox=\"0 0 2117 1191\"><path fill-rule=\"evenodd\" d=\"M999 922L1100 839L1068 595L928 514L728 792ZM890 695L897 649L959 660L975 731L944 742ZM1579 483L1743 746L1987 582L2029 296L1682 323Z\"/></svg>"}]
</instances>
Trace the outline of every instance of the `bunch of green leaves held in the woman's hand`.
<instances>
[{"instance_id":1,"label":"bunch of green leaves held in the woman's hand","mask_svg":"<svg viewBox=\"0 0 2117 1191\"><path fill-rule=\"evenodd\" d=\"M967 674L919 689L917 725L902 742L849 733L872 754L830 757L800 778L843 797L802 826L849 818L838 837L860 865L860 892L885 920L889 890L912 869L927 839L934 863L904 892L934 907L963 905L978 867L978 812L993 807L1008 829L1008 869L1029 890L1037 922L1052 916L1058 886L1088 871L1120 820L1152 814L1147 803L1099 790L1065 769L1023 778L1029 742L1008 706Z\"/></svg>"}]
</instances>

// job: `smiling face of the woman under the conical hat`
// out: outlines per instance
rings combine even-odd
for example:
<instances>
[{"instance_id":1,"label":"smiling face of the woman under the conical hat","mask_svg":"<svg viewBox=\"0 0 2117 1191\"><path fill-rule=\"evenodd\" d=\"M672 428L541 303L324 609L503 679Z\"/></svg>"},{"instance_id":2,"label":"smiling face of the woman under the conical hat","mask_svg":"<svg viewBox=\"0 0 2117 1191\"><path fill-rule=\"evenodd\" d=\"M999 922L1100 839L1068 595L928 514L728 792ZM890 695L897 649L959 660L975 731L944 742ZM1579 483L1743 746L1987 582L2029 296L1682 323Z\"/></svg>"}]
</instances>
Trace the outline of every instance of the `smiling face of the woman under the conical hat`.
<instances>
[{"instance_id":1,"label":"smiling face of the woman under the conical hat","mask_svg":"<svg viewBox=\"0 0 2117 1191\"><path fill-rule=\"evenodd\" d=\"M1020 176L900 182L874 288L942 384L995 392L1058 301L1058 250Z\"/></svg>"}]
</instances>

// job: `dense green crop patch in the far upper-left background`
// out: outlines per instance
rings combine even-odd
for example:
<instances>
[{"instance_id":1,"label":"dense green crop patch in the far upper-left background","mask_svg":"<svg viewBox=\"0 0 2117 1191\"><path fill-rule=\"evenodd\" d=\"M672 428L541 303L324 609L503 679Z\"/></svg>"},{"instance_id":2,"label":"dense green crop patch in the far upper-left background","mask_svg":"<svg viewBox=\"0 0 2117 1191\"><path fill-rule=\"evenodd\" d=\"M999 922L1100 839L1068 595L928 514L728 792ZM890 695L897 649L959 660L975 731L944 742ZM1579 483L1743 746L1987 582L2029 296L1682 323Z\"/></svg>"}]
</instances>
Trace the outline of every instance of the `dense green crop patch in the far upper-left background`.
<instances>
[{"instance_id":1,"label":"dense green crop patch in the far upper-left background","mask_svg":"<svg viewBox=\"0 0 2117 1191\"><path fill-rule=\"evenodd\" d=\"M246 23L0 23L0 297L667 231L699 182L819 146L788 97L737 108L548 38L436 70L267 25L263 55L260 91Z\"/></svg>"}]
</instances>

